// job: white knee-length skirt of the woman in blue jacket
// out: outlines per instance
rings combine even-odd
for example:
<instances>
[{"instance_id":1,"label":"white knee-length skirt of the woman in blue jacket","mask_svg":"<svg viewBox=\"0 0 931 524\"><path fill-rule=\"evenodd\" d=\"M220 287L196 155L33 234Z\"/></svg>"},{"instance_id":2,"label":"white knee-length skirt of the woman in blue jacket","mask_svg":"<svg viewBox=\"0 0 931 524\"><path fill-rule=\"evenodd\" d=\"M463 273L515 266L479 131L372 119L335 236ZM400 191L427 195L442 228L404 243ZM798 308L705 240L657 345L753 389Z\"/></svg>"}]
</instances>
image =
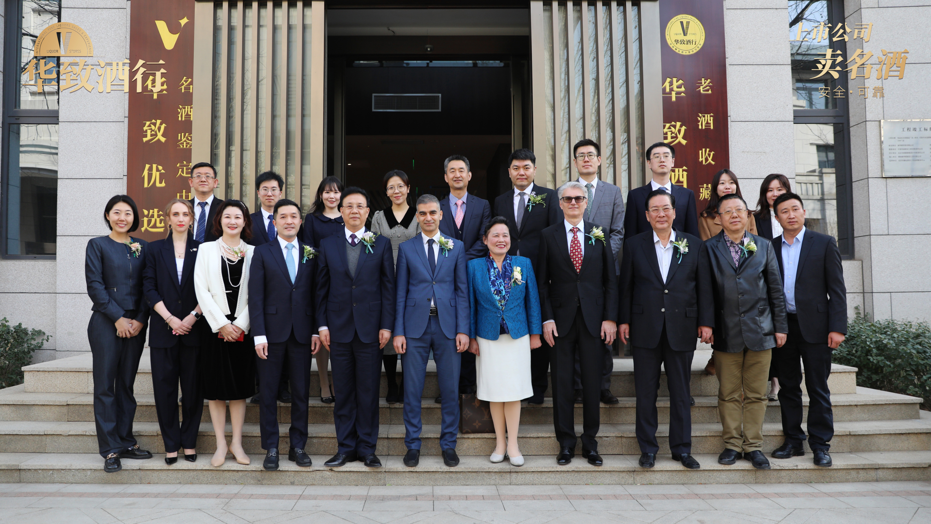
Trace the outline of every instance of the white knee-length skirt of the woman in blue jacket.
<instances>
[{"instance_id":1,"label":"white knee-length skirt of the woman in blue jacket","mask_svg":"<svg viewBox=\"0 0 931 524\"><path fill-rule=\"evenodd\" d=\"M530 335L512 339L504 334L496 341L481 337L475 357L479 400L511 402L533 396L530 377Z\"/></svg>"}]
</instances>

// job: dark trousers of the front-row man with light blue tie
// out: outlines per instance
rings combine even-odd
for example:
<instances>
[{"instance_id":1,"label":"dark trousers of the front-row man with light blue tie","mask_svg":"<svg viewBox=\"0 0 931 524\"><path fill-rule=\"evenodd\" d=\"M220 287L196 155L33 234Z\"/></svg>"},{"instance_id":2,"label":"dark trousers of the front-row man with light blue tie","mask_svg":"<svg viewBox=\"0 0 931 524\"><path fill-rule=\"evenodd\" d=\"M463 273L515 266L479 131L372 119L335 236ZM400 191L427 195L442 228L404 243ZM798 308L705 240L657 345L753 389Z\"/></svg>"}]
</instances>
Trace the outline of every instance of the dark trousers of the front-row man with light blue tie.
<instances>
[{"instance_id":1,"label":"dark trousers of the front-row man with light blue tie","mask_svg":"<svg viewBox=\"0 0 931 524\"><path fill-rule=\"evenodd\" d=\"M268 357L256 356L262 383L278 383L287 375L291 383L290 447L307 445L307 396L310 389L310 344L299 343L291 330L283 343L268 343ZM285 362L288 366L285 367ZM267 393L267 392L266 392ZM278 447L278 400L274 395L260 396L259 422L262 431L262 449Z\"/></svg>"}]
</instances>

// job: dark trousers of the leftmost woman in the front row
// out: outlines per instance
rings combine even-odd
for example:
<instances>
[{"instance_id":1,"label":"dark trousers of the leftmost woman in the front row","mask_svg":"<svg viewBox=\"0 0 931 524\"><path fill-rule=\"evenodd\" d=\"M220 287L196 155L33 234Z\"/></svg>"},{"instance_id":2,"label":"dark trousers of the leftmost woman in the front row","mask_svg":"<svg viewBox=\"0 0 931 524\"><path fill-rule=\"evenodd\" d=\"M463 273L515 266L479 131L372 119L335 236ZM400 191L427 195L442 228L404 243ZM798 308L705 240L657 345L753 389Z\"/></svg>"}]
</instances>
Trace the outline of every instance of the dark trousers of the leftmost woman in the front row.
<instances>
[{"instance_id":1,"label":"dark trousers of the leftmost woman in the front row","mask_svg":"<svg viewBox=\"0 0 931 524\"><path fill-rule=\"evenodd\" d=\"M135 312L126 315L135 316ZM109 317L95 311L88 322L88 342L93 356L94 423L101 457L119 453L136 445L132 420L136 416L136 382L145 329L130 339L116 336L116 326Z\"/></svg>"}]
</instances>

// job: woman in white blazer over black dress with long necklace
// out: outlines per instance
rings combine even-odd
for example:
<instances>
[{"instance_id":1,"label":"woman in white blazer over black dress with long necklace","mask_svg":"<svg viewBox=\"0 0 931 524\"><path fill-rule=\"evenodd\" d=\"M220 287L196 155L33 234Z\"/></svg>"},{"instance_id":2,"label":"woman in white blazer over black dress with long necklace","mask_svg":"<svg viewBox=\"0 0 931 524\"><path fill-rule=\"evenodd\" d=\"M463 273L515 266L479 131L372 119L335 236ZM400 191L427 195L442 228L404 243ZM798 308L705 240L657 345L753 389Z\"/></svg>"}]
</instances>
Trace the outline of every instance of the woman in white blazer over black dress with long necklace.
<instances>
[{"instance_id":1,"label":"woman in white blazer over black dress with long necklace","mask_svg":"<svg viewBox=\"0 0 931 524\"><path fill-rule=\"evenodd\" d=\"M249 332L249 266L252 233L249 208L226 200L213 220L220 238L200 245L194 269L197 302L209 325L200 344L200 383L209 400L217 451L210 464L223 465L232 451L239 464L249 464L242 449L246 399L255 394L255 350ZM233 439L226 445L226 401Z\"/></svg>"}]
</instances>

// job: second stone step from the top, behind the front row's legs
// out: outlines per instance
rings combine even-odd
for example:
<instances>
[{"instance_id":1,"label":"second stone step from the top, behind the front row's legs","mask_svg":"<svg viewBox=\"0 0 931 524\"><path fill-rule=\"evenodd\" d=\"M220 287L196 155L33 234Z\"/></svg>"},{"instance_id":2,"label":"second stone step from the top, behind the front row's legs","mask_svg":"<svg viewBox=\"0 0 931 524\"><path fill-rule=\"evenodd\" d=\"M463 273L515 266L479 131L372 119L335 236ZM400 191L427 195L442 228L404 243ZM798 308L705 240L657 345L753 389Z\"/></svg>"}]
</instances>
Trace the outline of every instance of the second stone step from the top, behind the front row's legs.
<instances>
[{"instance_id":1,"label":"second stone step from the top, behind the front row's legs","mask_svg":"<svg viewBox=\"0 0 931 524\"><path fill-rule=\"evenodd\" d=\"M622 396L620 403L601 405L602 423L634 423L636 416L636 397ZM137 394L137 422L157 422L155 400L152 394ZM383 423L403 423L403 404L388 404L381 398L380 417ZM857 387L855 394L834 394L831 396L835 422L862 422L881 420L916 419L919 417L921 399L914 396L897 395L865 387ZM807 413L808 397L803 397ZM425 423L439 423L439 405L433 398L424 398L422 413ZM661 396L657 401L659 422L669 422L668 396ZM320 402L319 396L310 398L310 423L332 423L333 405ZM523 423L552 423L553 404L547 397L542 406L523 403L520 413ZM94 420L93 396L88 393L28 393L24 384L0 390L0 421L58 421L90 422ZM204 410L203 422L209 422L209 411ZM278 405L278 420L290 422L290 404ZM246 421L259 422L259 407L249 404L246 408ZM575 407L575 421L582 422L582 407ZM781 421L779 403L771 402L766 410L765 422ZM716 423L718 417L717 396L695 396L692 408L693 423Z\"/></svg>"}]
</instances>

